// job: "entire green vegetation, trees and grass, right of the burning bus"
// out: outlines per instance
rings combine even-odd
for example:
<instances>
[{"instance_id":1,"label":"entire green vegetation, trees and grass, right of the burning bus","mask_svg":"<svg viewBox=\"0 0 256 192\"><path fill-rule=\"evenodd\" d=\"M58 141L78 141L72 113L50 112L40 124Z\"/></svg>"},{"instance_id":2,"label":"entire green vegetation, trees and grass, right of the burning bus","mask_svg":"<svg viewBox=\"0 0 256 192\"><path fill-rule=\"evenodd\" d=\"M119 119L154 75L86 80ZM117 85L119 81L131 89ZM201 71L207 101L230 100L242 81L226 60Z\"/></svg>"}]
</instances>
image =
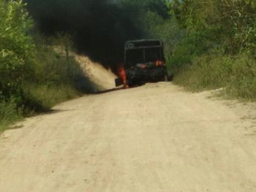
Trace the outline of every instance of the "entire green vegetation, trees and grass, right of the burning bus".
<instances>
[{"instance_id":1,"label":"entire green vegetation, trees and grass, right of the burning bus","mask_svg":"<svg viewBox=\"0 0 256 192\"><path fill-rule=\"evenodd\" d=\"M138 4L144 7L140 26L145 36L165 42L176 84L190 91L221 89L229 98L256 101L256 1Z\"/></svg>"}]
</instances>

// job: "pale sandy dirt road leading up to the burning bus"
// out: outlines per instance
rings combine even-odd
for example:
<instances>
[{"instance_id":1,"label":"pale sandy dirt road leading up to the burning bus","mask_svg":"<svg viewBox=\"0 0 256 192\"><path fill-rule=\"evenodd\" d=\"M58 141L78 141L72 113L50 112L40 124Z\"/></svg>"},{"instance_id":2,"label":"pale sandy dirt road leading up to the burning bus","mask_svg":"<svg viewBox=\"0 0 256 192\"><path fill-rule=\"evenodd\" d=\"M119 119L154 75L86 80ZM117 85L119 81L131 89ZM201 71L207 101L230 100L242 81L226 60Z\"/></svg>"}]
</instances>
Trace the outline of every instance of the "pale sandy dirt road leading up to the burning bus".
<instances>
[{"instance_id":1,"label":"pale sandy dirt road leading up to the burning bus","mask_svg":"<svg viewBox=\"0 0 256 192\"><path fill-rule=\"evenodd\" d=\"M256 191L255 105L169 82L68 101L0 137L0 191Z\"/></svg>"}]
</instances>

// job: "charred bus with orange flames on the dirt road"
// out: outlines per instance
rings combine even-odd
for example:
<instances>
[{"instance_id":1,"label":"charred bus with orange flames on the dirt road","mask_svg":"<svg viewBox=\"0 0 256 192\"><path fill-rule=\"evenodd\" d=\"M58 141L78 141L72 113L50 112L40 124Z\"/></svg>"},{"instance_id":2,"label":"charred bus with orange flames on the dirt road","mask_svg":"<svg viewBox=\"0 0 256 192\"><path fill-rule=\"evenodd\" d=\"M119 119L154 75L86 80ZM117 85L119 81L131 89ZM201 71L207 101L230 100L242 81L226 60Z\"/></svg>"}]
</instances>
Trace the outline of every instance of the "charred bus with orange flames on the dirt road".
<instances>
[{"instance_id":1,"label":"charred bus with orange flames on the dirt road","mask_svg":"<svg viewBox=\"0 0 256 192\"><path fill-rule=\"evenodd\" d=\"M124 64L118 69L116 86L126 88L146 82L167 81L164 46L159 40L128 41L124 46Z\"/></svg>"}]
</instances>

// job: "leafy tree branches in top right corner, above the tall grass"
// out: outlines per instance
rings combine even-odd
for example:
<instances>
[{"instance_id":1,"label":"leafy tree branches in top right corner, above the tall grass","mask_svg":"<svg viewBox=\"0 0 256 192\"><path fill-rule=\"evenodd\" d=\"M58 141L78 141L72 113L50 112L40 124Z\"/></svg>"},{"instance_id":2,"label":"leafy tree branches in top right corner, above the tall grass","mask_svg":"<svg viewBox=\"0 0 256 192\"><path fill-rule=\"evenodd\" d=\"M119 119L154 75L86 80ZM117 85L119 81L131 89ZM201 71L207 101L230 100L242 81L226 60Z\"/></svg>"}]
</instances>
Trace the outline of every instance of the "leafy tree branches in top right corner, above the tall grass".
<instances>
[{"instance_id":1,"label":"leafy tree branches in top right corner, above the tall grass","mask_svg":"<svg viewBox=\"0 0 256 192\"><path fill-rule=\"evenodd\" d=\"M256 7L253 0L172 1L171 13L189 33L200 31L225 53L255 52Z\"/></svg>"}]
</instances>

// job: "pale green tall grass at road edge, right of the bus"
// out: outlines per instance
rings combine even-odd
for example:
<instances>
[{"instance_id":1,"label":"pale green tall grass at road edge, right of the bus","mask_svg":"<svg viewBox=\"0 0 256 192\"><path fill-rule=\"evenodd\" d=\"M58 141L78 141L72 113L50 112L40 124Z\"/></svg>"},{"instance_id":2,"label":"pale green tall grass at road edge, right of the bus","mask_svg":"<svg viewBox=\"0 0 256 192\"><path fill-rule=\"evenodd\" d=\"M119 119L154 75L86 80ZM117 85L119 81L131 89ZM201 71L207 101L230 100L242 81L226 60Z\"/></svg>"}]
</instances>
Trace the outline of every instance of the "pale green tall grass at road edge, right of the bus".
<instances>
[{"instance_id":1,"label":"pale green tall grass at road edge, right of the bus","mask_svg":"<svg viewBox=\"0 0 256 192\"><path fill-rule=\"evenodd\" d=\"M233 98L255 100L256 61L249 55L203 55L178 69L174 81L192 91L224 88Z\"/></svg>"}]
</instances>

